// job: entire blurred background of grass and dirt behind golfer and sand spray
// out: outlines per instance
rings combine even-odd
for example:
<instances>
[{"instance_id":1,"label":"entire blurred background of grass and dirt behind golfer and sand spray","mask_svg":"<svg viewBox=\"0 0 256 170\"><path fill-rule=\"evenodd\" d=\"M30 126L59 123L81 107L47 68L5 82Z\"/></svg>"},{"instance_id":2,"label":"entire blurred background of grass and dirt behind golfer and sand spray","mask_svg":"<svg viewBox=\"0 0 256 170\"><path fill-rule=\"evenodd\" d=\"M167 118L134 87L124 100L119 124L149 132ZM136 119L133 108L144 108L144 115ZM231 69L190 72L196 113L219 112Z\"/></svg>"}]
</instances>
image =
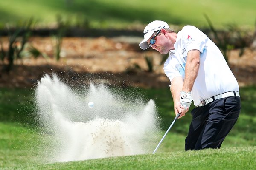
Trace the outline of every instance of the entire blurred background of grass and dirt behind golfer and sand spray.
<instances>
[{"instance_id":1,"label":"entire blurred background of grass and dirt behind golfer and sand spray","mask_svg":"<svg viewBox=\"0 0 256 170\"><path fill-rule=\"evenodd\" d=\"M218 45L242 100L223 146L255 146L255 0L0 0L0 16L0 169L35 161L45 135L36 129L35 88L45 74L76 88L101 82L154 99L164 133L174 117L168 55L139 48L153 20L175 32L196 26ZM183 150L190 119L175 125L162 151Z\"/></svg>"}]
</instances>

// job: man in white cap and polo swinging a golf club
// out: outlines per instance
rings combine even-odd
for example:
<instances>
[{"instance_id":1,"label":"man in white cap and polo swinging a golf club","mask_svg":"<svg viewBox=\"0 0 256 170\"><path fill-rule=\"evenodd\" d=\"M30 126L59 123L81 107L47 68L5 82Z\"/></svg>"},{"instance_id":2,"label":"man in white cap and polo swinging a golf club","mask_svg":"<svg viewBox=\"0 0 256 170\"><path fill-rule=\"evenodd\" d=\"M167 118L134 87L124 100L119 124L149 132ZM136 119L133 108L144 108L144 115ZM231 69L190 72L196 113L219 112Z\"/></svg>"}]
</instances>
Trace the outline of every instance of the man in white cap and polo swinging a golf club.
<instances>
[{"instance_id":1,"label":"man in white cap and polo swinging a golf club","mask_svg":"<svg viewBox=\"0 0 256 170\"><path fill-rule=\"evenodd\" d=\"M169 77L175 114L191 111L185 150L220 148L239 117L239 85L221 51L202 31L184 26L175 33L164 21L144 29L143 50L168 54L164 72Z\"/></svg>"}]
</instances>

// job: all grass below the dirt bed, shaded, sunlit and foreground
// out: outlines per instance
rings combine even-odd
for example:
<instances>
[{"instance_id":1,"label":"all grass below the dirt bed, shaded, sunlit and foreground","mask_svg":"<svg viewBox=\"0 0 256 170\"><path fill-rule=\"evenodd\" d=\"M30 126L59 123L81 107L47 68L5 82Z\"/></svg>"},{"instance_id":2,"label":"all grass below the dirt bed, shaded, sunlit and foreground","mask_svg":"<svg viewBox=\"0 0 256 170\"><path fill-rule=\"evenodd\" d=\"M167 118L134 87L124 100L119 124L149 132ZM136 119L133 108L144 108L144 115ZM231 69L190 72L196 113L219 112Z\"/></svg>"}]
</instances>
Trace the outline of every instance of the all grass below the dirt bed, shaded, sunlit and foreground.
<instances>
[{"instance_id":1,"label":"all grass below the dirt bed, shaded, sunlit and foreground","mask_svg":"<svg viewBox=\"0 0 256 170\"><path fill-rule=\"evenodd\" d=\"M174 118L169 89L128 88L154 99L162 118L162 135ZM49 134L37 129L33 89L0 88L0 169L253 169L256 151L256 87L240 89L242 110L221 150L184 150L191 116L178 119L156 155L124 156L68 163L44 164ZM231 163L232 162L232 163Z\"/></svg>"}]
</instances>

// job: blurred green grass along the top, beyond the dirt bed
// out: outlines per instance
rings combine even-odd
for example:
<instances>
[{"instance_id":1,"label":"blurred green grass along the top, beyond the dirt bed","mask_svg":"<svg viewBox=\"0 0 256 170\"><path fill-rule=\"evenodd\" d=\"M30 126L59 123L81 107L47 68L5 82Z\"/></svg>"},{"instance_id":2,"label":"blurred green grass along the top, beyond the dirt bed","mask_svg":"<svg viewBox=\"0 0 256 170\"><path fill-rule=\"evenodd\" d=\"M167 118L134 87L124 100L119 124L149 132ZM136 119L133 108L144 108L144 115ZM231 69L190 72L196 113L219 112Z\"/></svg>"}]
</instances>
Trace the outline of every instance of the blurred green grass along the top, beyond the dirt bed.
<instances>
[{"instance_id":1,"label":"blurred green grass along the top, beyond the dirt bed","mask_svg":"<svg viewBox=\"0 0 256 170\"><path fill-rule=\"evenodd\" d=\"M70 1L71 3L67 3ZM56 15L81 23L85 18L96 28L126 28L152 20L174 25L207 26L207 14L216 27L229 23L253 28L255 0L2 0L0 22L17 23L35 17L41 24L56 21Z\"/></svg>"}]
</instances>

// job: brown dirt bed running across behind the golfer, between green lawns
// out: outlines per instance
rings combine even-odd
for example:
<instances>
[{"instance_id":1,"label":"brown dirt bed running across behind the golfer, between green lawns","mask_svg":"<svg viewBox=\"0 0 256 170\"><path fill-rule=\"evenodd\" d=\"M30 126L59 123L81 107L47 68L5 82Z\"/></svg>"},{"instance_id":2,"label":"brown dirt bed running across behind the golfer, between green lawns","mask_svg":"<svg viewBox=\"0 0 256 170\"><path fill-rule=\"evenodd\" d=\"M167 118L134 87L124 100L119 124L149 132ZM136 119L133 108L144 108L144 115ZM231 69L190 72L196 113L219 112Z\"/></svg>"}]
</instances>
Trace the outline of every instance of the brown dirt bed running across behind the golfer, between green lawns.
<instances>
[{"instance_id":1,"label":"brown dirt bed running across behind the golfer, between green lawns","mask_svg":"<svg viewBox=\"0 0 256 170\"><path fill-rule=\"evenodd\" d=\"M79 85L105 82L121 86L144 88L169 88L169 79L160 62L163 55L157 51L140 50L140 38L116 37L64 38L61 59L54 59L54 43L50 37L33 37L33 45L49 56L23 58L15 61L13 70L0 73L0 87L32 87L44 75L52 72ZM8 47L3 38L3 48ZM145 56L153 57L154 71L148 72ZM239 85L256 84L256 51L246 49L239 57L239 50L230 52L230 68ZM140 68L136 68L139 65ZM3 62L0 63L0 69Z\"/></svg>"}]
</instances>

